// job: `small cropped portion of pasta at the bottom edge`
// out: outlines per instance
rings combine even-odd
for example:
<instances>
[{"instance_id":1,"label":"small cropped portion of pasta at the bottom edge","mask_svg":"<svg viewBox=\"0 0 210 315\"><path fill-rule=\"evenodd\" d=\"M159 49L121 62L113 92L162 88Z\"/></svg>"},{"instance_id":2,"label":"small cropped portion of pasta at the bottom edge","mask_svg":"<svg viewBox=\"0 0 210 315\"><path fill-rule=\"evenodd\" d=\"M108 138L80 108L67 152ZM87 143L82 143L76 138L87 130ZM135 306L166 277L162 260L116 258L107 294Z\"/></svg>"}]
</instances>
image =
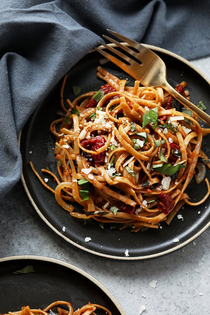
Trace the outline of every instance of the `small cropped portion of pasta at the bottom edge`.
<instances>
[{"instance_id":1,"label":"small cropped portion of pasta at the bottom edge","mask_svg":"<svg viewBox=\"0 0 210 315\"><path fill-rule=\"evenodd\" d=\"M60 305L66 305L68 307L68 311L65 309L62 309L57 306ZM88 303L81 308L78 308L76 311L73 311L73 308L71 306L70 302L66 301L56 301L48 305L44 310L41 309L30 309L29 306L24 306L21 308L20 311L17 312L9 312L8 314L5 315L48 315L48 312L53 308L56 307L56 314L58 313L59 315L96 315L94 312L97 308L102 309L105 311L105 314L111 315L111 312L104 306L98 305L98 304L92 304ZM54 310L55 311L55 310ZM55 312L54 312L55 313Z\"/></svg>"}]
</instances>

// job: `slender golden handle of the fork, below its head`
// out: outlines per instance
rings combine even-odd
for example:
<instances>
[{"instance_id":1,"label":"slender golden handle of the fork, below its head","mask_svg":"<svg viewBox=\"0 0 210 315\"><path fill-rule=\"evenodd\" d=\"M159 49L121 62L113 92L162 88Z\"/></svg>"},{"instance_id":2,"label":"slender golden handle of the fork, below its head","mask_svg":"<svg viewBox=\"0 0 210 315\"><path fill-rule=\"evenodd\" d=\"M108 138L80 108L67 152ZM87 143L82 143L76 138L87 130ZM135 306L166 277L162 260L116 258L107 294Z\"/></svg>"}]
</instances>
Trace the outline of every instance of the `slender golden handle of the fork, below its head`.
<instances>
[{"instance_id":1,"label":"slender golden handle of the fork, below its head","mask_svg":"<svg viewBox=\"0 0 210 315\"><path fill-rule=\"evenodd\" d=\"M188 99L178 93L167 81L165 81L162 85L162 88L165 89L169 94L171 94L175 99L177 99L180 103L190 109L196 116L201 118L205 123L210 125L210 116L198 108L195 104L191 103Z\"/></svg>"}]
</instances>

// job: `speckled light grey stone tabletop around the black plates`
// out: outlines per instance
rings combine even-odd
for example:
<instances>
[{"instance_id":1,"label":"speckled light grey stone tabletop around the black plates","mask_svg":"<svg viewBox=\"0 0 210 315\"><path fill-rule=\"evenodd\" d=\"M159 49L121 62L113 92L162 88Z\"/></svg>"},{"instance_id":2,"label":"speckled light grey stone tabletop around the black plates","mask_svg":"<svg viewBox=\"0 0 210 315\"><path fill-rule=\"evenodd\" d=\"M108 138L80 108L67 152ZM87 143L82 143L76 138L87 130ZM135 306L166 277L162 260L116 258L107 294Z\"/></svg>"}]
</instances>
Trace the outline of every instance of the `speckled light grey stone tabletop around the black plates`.
<instances>
[{"instance_id":1,"label":"speckled light grey stone tabletop around the black plates","mask_svg":"<svg viewBox=\"0 0 210 315\"><path fill-rule=\"evenodd\" d=\"M192 63L210 77L210 57ZM54 235L31 208L21 182L0 203L0 224L0 257L41 255L69 262L104 284L128 315L138 315L142 305L145 315L210 314L210 229L164 257L108 261ZM155 288L149 285L152 280Z\"/></svg>"}]
</instances>

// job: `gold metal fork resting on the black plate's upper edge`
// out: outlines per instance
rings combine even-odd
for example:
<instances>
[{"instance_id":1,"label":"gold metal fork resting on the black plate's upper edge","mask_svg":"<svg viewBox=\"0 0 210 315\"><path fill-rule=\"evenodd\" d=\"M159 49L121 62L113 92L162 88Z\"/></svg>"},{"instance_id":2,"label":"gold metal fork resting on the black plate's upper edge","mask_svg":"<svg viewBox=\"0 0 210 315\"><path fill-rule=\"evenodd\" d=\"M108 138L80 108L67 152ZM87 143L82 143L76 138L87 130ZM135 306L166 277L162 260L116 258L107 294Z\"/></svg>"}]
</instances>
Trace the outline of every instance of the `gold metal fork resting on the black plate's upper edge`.
<instances>
[{"instance_id":1,"label":"gold metal fork resting on the black plate's upper edge","mask_svg":"<svg viewBox=\"0 0 210 315\"><path fill-rule=\"evenodd\" d=\"M106 49L110 50L114 54L118 55L121 60L116 58L115 56L107 53L105 50L100 49L99 47L95 47L95 49L105 56L107 59L111 60L114 64L120 67L122 70L127 72L131 77L135 80L139 80L140 83L144 86L148 87L162 87L165 89L170 95L176 98L180 103L186 106L190 111L200 117L204 122L210 125L210 116L203 112L199 107L195 104L191 103L184 96L179 94L168 82L166 77L166 65L163 60L155 54L150 49L145 46L135 42L134 40L125 37L115 31L107 30L115 37L119 38L123 42L127 43L128 46L123 45L122 43L117 42L111 37L103 35L108 41L114 43L117 47L126 51L130 57L122 52L118 51L114 47L107 45L105 43L99 42ZM135 49L135 51L131 48ZM139 60L140 62L137 62ZM125 62L123 62L124 60Z\"/></svg>"}]
</instances>

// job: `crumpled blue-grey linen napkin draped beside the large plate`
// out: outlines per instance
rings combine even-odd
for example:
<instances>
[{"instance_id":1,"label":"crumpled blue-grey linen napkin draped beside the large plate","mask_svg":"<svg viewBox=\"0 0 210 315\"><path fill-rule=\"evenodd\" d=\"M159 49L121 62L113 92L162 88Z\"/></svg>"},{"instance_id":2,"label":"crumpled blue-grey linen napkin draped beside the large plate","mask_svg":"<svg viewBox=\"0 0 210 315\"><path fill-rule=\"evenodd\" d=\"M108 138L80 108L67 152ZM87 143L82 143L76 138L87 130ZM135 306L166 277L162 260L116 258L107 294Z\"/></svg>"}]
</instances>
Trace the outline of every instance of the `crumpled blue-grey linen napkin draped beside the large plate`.
<instances>
[{"instance_id":1,"label":"crumpled blue-grey linen napkin draped beside the large plate","mask_svg":"<svg viewBox=\"0 0 210 315\"><path fill-rule=\"evenodd\" d=\"M20 130L107 28L194 59L209 55L209 12L208 0L1 0L0 199L20 179Z\"/></svg>"}]
</instances>

